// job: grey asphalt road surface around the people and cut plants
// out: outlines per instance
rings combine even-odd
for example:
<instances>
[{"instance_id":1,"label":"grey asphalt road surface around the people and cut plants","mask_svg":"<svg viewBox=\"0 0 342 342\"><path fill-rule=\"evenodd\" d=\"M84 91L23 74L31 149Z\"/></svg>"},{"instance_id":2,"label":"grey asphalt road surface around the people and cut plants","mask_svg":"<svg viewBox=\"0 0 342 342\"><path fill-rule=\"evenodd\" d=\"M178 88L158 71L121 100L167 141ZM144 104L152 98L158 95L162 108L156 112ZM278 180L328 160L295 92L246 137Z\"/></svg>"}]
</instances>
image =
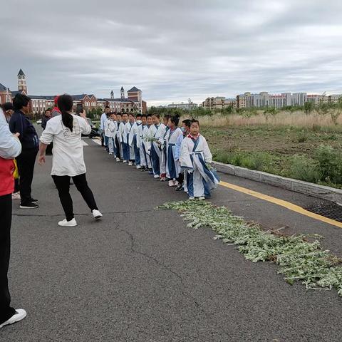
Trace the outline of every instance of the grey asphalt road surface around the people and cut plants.
<instances>
[{"instance_id":1,"label":"grey asphalt road surface around the people and cut plants","mask_svg":"<svg viewBox=\"0 0 342 342\"><path fill-rule=\"evenodd\" d=\"M11 294L28 317L0 331L2 342L341 341L335 291L289 286L276 266L246 261L209 229L185 227L158 204L185 195L145 172L117 164L91 140L88 180L103 220L94 222L72 190L78 227L63 218L49 176L36 167L38 210L14 203ZM243 185L303 206L317 199L236 177ZM341 229L220 187L212 202L266 227L318 232L341 253Z\"/></svg>"}]
</instances>

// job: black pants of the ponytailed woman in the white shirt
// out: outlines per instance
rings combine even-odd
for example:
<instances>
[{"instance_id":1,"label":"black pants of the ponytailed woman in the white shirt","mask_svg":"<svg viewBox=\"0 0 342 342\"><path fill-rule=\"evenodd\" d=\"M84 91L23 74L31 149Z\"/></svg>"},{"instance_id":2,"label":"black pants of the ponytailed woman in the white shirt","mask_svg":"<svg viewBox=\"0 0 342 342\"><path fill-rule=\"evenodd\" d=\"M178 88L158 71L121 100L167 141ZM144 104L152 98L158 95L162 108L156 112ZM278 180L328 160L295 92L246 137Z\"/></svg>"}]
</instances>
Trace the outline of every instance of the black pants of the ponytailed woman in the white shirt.
<instances>
[{"instance_id":1,"label":"black pants of the ponytailed woman in the white shirt","mask_svg":"<svg viewBox=\"0 0 342 342\"><path fill-rule=\"evenodd\" d=\"M61 199L61 204L63 210L66 214L66 220L70 221L73 219L73 199L71 199L71 195L69 193L70 190L70 176L56 176L52 175L53 182L58 190L59 199ZM73 177L73 183L76 186L76 189L81 192L83 199L88 204L90 210L98 209L93 192L88 187L88 182L86 179L86 174L77 175Z\"/></svg>"}]
</instances>

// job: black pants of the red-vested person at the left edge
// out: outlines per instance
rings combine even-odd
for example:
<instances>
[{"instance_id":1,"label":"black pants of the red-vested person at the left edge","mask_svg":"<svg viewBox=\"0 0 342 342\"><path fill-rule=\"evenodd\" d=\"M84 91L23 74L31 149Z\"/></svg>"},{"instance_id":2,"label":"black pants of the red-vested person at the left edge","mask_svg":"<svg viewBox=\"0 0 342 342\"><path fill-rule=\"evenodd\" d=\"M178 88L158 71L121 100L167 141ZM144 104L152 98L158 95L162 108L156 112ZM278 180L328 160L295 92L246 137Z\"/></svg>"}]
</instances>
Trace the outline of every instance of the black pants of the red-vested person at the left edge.
<instances>
[{"instance_id":1,"label":"black pants of the red-vested person at the left edge","mask_svg":"<svg viewBox=\"0 0 342 342\"><path fill-rule=\"evenodd\" d=\"M11 308L9 294L9 254L11 252L12 195L0 196L0 324L16 311Z\"/></svg>"}]
</instances>

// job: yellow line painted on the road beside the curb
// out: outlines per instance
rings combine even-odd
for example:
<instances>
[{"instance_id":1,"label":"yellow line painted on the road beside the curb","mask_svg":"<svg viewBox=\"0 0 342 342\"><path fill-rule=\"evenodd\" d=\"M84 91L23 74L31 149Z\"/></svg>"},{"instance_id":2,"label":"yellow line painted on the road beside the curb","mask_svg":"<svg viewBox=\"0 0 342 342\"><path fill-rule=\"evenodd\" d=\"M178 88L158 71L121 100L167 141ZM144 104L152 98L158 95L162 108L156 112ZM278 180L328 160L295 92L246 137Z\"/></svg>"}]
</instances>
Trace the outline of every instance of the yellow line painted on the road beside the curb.
<instances>
[{"instance_id":1,"label":"yellow line painted on the road beside the curb","mask_svg":"<svg viewBox=\"0 0 342 342\"><path fill-rule=\"evenodd\" d=\"M314 212L309 212L308 210L302 207L299 207L299 205L286 202L283 199L271 197L269 195L264 195L264 194L261 194L260 192L249 190L249 189L246 189L245 187L239 187L238 185L234 185L234 184L227 183L227 182L219 182L219 185L222 185L222 187L227 187L232 190L236 190L238 192L243 192L244 194L247 194L249 196L257 197L259 199L264 199L264 201L278 204L281 207L285 207L286 209L291 210L292 212L298 212L299 214L305 215L307 217L311 217L312 219L318 219L318 221L332 224L333 226L342 228L342 222L335 221L334 219L328 219L327 217L323 217L321 215L315 214Z\"/></svg>"}]
</instances>

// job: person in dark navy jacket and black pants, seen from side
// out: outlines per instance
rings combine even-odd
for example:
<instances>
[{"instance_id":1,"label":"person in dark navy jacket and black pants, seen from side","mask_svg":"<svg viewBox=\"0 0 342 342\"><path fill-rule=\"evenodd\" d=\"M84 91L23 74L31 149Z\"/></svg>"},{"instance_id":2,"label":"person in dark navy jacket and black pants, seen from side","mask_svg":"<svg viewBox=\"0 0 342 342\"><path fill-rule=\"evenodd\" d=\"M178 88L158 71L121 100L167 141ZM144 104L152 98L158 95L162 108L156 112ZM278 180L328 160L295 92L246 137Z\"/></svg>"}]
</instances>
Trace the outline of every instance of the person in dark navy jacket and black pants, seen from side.
<instances>
[{"instance_id":1,"label":"person in dark navy jacket and black pants, seen from side","mask_svg":"<svg viewBox=\"0 0 342 342\"><path fill-rule=\"evenodd\" d=\"M14 114L9 121L12 133L19 133L21 154L16 157L19 170L20 207L22 209L38 208L37 199L31 197L34 164L39 148L38 135L27 114L30 98L24 94L17 94L13 99Z\"/></svg>"}]
</instances>

